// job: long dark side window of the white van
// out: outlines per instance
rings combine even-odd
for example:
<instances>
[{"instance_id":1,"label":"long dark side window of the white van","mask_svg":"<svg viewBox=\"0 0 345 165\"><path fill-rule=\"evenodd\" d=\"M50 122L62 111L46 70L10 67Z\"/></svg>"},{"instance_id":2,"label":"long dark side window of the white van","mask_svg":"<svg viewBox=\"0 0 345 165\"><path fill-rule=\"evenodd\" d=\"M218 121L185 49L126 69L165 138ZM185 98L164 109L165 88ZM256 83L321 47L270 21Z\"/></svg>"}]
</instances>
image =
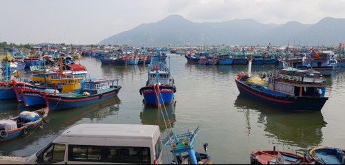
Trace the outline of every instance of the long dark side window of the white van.
<instances>
[{"instance_id":1,"label":"long dark side window of the white van","mask_svg":"<svg viewBox=\"0 0 345 165\"><path fill-rule=\"evenodd\" d=\"M68 160L150 164L150 148L135 146L68 145Z\"/></svg>"}]
</instances>

